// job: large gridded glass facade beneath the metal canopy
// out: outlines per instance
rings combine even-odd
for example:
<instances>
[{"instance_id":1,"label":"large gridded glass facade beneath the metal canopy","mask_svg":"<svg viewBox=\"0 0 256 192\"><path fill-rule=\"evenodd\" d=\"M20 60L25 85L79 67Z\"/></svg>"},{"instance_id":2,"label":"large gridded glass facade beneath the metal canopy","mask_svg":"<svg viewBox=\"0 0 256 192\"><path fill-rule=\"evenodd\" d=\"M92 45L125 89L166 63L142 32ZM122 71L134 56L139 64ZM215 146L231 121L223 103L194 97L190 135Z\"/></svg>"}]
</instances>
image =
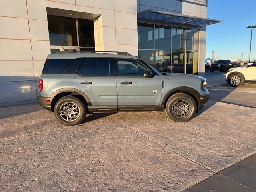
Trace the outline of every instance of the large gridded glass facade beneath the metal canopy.
<instances>
[{"instance_id":1,"label":"large gridded glass facade beneath the metal canopy","mask_svg":"<svg viewBox=\"0 0 256 192\"><path fill-rule=\"evenodd\" d=\"M138 56L160 72L198 74L199 29L138 23Z\"/></svg>"}]
</instances>

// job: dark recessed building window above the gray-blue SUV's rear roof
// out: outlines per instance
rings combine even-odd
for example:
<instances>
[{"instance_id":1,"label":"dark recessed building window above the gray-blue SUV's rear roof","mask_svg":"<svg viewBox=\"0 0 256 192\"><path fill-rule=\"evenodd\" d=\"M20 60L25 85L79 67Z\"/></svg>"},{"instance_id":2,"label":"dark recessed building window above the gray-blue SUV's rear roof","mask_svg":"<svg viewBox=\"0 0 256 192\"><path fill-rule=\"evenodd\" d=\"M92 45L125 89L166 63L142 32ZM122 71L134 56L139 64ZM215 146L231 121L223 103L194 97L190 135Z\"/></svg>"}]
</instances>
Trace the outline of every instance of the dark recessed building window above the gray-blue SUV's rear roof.
<instances>
[{"instance_id":1,"label":"dark recessed building window above the gray-blue SUV's rear roof","mask_svg":"<svg viewBox=\"0 0 256 192\"><path fill-rule=\"evenodd\" d=\"M95 50L92 20L53 15L47 17L51 53Z\"/></svg>"}]
</instances>

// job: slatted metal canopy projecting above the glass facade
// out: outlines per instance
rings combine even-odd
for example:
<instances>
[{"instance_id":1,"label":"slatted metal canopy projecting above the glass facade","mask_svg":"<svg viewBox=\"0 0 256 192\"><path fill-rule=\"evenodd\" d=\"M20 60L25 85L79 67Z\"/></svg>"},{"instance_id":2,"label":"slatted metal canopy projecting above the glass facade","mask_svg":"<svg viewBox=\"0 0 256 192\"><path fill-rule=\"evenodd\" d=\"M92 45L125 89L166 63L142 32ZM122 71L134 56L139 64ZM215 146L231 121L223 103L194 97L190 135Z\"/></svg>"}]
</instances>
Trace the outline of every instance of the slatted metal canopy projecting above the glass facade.
<instances>
[{"instance_id":1,"label":"slatted metal canopy projecting above the glass facade","mask_svg":"<svg viewBox=\"0 0 256 192\"><path fill-rule=\"evenodd\" d=\"M201 26L201 27L221 22L220 20L215 20L215 19L208 19L203 17L195 17L195 16L182 15L182 14L174 14L174 13L151 10L151 9L139 12L137 15L139 19L187 24L187 25L194 25L194 26Z\"/></svg>"}]
</instances>

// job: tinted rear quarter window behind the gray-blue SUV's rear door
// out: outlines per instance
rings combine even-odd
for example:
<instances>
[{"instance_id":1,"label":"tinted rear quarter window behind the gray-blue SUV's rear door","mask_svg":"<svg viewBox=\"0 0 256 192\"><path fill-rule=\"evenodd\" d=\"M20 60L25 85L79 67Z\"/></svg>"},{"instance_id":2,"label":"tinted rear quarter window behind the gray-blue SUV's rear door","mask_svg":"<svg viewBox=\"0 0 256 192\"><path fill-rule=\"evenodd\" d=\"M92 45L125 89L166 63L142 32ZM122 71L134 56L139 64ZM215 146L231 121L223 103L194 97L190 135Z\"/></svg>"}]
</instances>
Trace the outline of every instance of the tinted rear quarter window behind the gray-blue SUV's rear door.
<instances>
[{"instance_id":1,"label":"tinted rear quarter window behind the gray-blue SUV's rear door","mask_svg":"<svg viewBox=\"0 0 256 192\"><path fill-rule=\"evenodd\" d=\"M84 58L77 59L47 59L43 74L77 74Z\"/></svg>"}]
</instances>

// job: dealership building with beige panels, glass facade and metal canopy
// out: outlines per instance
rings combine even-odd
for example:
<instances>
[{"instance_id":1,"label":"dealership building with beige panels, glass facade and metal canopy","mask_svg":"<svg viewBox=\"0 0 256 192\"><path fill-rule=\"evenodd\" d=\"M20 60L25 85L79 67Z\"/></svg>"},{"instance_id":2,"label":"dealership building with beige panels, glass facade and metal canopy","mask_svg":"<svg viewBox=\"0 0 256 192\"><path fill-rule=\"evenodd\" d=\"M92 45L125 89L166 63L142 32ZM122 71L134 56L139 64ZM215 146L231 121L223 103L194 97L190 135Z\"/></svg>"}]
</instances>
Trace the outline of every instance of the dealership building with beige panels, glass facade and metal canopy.
<instances>
[{"instance_id":1,"label":"dealership building with beige panels, glass facade and metal canopy","mask_svg":"<svg viewBox=\"0 0 256 192\"><path fill-rule=\"evenodd\" d=\"M36 102L46 57L125 51L160 72L204 75L207 0L5 0L0 106Z\"/></svg>"}]
</instances>

